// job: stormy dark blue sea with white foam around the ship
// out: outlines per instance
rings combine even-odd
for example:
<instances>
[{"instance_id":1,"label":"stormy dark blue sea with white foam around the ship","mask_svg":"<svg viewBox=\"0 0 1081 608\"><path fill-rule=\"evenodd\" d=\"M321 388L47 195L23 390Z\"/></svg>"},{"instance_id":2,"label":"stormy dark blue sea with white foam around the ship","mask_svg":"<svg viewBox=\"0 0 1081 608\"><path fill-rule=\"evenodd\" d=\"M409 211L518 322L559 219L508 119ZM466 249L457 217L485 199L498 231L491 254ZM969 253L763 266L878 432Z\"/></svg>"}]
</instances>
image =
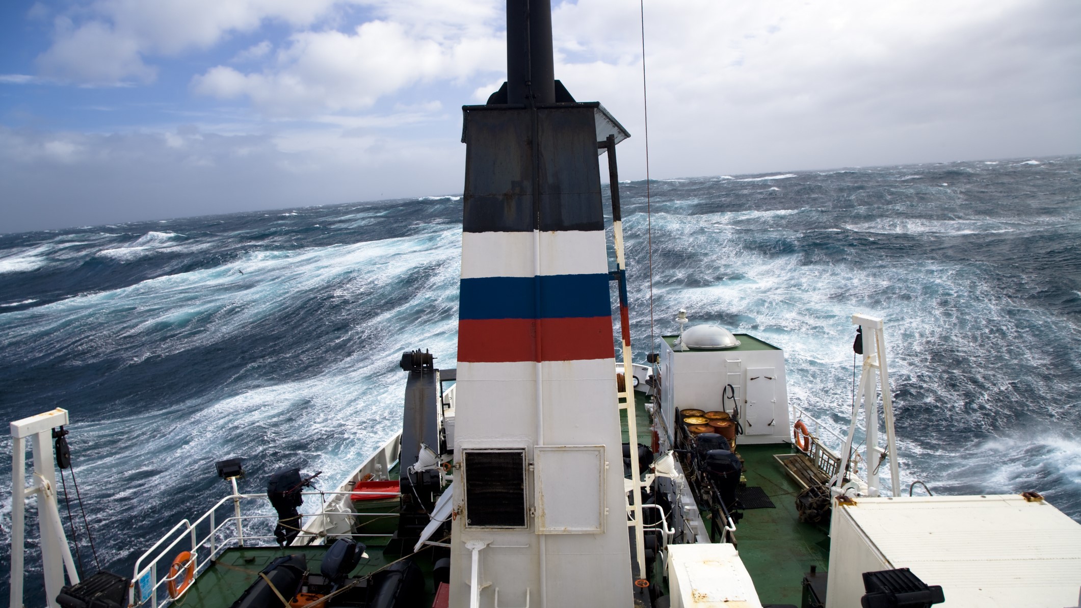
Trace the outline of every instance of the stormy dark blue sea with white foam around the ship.
<instances>
[{"instance_id":1,"label":"stormy dark blue sea with white foam around the ship","mask_svg":"<svg viewBox=\"0 0 1081 608\"><path fill-rule=\"evenodd\" d=\"M682 307L780 346L791 401L838 429L850 315L883 317L904 487L1038 490L1081 520L1081 157L619 189L638 358L651 242L653 340ZM242 491L284 466L333 489L390 437L401 353L455 365L461 219L444 196L0 235L0 414L70 411L101 567L130 577L226 495L217 460L246 459ZM3 589L10 492L3 455ZM32 504L27 521L38 605Z\"/></svg>"}]
</instances>

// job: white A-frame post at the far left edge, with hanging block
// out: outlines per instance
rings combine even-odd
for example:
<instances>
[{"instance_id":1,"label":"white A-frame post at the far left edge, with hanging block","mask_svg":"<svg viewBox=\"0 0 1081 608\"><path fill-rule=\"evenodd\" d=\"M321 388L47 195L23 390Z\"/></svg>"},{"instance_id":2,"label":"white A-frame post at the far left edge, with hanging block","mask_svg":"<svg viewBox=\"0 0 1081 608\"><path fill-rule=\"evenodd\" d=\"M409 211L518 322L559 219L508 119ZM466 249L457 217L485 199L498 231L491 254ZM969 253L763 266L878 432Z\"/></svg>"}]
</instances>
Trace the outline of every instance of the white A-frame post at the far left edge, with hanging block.
<instances>
[{"instance_id":1,"label":"white A-frame post at the far left edge, with hanging block","mask_svg":"<svg viewBox=\"0 0 1081 608\"><path fill-rule=\"evenodd\" d=\"M67 410L31 415L11 423L11 608L23 608L23 573L26 541L26 499L37 494L38 525L41 529L41 563L45 577L45 602L55 608L56 596L64 586L64 568L68 581L79 582L71 559L71 550L64 534L56 507L56 465L53 462L52 429L68 423ZM34 473L26 486L26 440L34 447Z\"/></svg>"}]
</instances>

